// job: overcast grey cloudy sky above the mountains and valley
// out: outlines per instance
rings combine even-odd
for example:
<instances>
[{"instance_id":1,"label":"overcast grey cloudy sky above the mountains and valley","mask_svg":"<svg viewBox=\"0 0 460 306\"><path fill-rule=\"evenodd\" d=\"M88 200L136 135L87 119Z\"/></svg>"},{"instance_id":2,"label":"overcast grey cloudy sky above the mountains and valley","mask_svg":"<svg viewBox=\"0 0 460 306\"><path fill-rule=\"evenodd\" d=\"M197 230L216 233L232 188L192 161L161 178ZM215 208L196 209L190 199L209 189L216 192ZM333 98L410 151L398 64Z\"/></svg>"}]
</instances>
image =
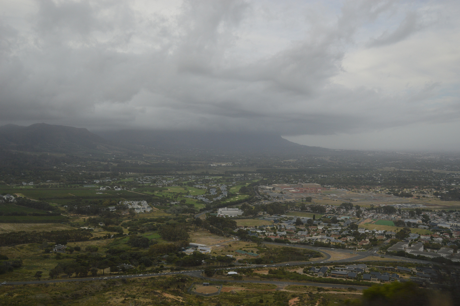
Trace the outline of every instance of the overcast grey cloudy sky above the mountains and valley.
<instances>
[{"instance_id":1,"label":"overcast grey cloudy sky above the mountains and valley","mask_svg":"<svg viewBox=\"0 0 460 306\"><path fill-rule=\"evenodd\" d=\"M460 1L1 0L0 125L460 150Z\"/></svg>"}]
</instances>

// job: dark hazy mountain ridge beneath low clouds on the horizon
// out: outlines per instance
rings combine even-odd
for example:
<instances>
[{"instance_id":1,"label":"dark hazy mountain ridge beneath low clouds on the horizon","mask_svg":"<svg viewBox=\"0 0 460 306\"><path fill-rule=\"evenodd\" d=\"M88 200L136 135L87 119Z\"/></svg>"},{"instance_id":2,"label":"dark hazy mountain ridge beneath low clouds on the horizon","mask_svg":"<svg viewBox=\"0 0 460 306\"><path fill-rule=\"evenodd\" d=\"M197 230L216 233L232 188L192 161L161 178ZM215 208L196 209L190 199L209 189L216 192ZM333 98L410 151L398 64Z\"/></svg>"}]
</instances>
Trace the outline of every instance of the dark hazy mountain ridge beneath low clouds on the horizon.
<instances>
[{"instance_id":1,"label":"dark hazy mountain ridge beneath low clouds on the horizon","mask_svg":"<svg viewBox=\"0 0 460 306\"><path fill-rule=\"evenodd\" d=\"M66 152L81 150L155 150L159 153L300 153L330 154L331 149L296 144L280 135L209 131L116 130L90 132L86 128L35 123L28 127L0 127L0 144L10 150Z\"/></svg>"}]
</instances>

